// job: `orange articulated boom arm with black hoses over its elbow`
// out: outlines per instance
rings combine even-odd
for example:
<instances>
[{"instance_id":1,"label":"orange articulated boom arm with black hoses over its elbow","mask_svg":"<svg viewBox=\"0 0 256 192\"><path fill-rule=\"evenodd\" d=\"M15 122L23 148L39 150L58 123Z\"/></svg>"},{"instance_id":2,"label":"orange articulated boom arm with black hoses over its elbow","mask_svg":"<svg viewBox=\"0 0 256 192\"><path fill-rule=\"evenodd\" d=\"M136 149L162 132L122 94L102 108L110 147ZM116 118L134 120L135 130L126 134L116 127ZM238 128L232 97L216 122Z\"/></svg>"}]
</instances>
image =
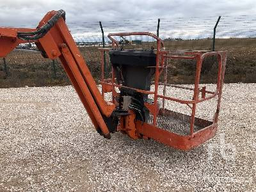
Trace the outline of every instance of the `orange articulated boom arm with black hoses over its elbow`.
<instances>
[{"instance_id":1,"label":"orange articulated boom arm with black hoses over its elbow","mask_svg":"<svg viewBox=\"0 0 256 192\"><path fill-rule=\"evenodd\" d=\"M44 57L52 60L60 58L95 129L105 138L110 138L111 125L108 124L111 122L115 104L106 102L100 94L65 24L65 12L63 10L48 12L37 29L0 28L0 57L6 56L17 45L28 42L35 42Z\"/></svg>"}]
</instances>

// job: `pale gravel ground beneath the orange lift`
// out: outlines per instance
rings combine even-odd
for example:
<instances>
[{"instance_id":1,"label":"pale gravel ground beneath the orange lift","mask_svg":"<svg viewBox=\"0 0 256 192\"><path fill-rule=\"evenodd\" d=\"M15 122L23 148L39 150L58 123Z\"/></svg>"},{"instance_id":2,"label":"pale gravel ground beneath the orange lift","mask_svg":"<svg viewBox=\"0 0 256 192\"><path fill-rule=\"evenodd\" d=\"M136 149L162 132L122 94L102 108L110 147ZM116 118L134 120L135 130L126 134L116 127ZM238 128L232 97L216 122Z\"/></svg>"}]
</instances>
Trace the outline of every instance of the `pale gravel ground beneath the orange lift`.
<instances>
[{"instance_id":1,"label":"pale gravel ground beneath the orange lift","mask_svg":"<svg viewBox=\"0 0 256 192\"><path fill-rule=\"evenodd\" d=\"M256 191L256 84L225 84L216 137L188 152L103 139L72 86L0 95L0 191Z\"/></svg>"}]
</instances>

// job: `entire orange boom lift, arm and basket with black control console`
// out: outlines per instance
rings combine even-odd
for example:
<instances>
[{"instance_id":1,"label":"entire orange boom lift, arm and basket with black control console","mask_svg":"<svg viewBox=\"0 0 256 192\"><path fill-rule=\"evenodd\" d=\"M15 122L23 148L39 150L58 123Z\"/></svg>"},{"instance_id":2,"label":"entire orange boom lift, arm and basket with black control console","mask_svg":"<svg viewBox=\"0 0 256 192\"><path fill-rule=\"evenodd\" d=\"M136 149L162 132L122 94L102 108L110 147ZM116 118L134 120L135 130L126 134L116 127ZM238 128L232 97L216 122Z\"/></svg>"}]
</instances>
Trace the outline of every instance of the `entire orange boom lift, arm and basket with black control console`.
<instances>
[{"instance_id":1,"label":"entire orange boom lift, arm and basket with black control console","mask_svg":"<svg viewBox=\"0 0 256 192\"><path fill-rule=\"evenodd\" d=\"M157 47L150 50L125 50L114 36L151 36ZM216 134L220 113L221 93L225 73L226 52L169 52L164 51L163 41L147 32L109 34L112 48L99 48L109 53L112 78L104 78L102 59L102 93L97 88L83 56L79 52L70 31L65 24L65 12L48 12L36 29L0 28L0 57L5 57L17 45L35 42L42 56L54 60L59 58L65 72L76 89L84 108L99 134L111 138L110 133L121 131L134 140L153 139L180 150L189 150L209 140ZM215 92L199 88L202 61L207 56L218 58L218 77ZM175 88L191 90L193 99L182 100L159 94L159 76L167 67L166 60L185 59L196 61L194 88L172 85ZM154 84L151 80L154 77ZM111 93L112 100L104 99L104 93ZM207 97L206 97L207 96ZM196 105L205 100L218 98L212 121L196 118ZM162 100L160 106L159 100ZM165 108L164 100L185 104L191 115L184 115ZM164 124L163 124L164 121Z\"/></svg>"}]
</instances>

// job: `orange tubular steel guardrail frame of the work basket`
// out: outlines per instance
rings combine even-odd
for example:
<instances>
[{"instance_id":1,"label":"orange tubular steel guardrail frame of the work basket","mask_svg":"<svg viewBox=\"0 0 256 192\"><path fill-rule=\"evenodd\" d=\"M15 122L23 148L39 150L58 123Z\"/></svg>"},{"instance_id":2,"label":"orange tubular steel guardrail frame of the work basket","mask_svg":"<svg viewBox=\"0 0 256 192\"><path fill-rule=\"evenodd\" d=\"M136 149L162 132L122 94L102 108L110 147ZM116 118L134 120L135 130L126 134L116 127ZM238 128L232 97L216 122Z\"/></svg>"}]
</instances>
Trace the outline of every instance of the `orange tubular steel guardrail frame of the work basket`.
<instances>
[{"instance_id":1,"label":"orange tubular steel guardrail frame of the work basket","mask_svg":"<svg viewBox=\"0 0 256 192\"><path fill-rule=\"evenodd\" d=\"M224 80L224 74L225 74L225 64L226 64L226 52L225 51L219 51L219 52L202 52L202 51L194 51L194 52L176 52L176 54L182 53L185 56L180 55L173 55L172 52L164 51L164 44L163 41L157 37L156 35L148 32L135 32L135 33L111 33L108 35L109 39L112 40L112 47L115 49L118 47L118 42L113 38L113 36L132 36L132 35L147 35L152 36L157 41L157 49L156 49L156 73L155 73L155 81L154 81L154 92L152 91L146 91L146 90L138 90L135 88L129 88L131 90L136 90L140 93L145 94L152 94L154 95L154 104L148 104L145 103L145 106L149 109L150 113L154 116L153 118L153 124L141 124L140 121L137 120L135 124L136 131L138 132L138 135L131 136L131 138L140 138L140 136L143 136L143 138L152 138L154 140L157 140L161 143L164 143L166 145L169 145L171 147L178 148L180 150L189 150L190 148L196 147L200 145L201 143L204 143L205 141L212 138L217 131L218 127L218 115L220 113L220 102L221 102L221 94L222 94L222 88L223 88L223 80ZM99 51L101 54L103 54L103 51L109 51L108 48L102 49L99 48ZM171 55L170 55L171 54ZM205 90L205 87L202 88L202 90L199 89L199 81L200 81L200 72L202 68L202 61L207 56L217 56L218 58L218 77L217 77L217 86L215 92L209 92ZM172 85L175 88L182 88L186 90L193 90L193 100L181 100L176 99L174 97L166 97L165 95L159 95L158 94L158 86L159 86L159 76L161 72L163 72L163 68L167 67L164 65L164 61L168 59L186 59L186 60L196 60L196 74L195 74L195 88L186 88L184 86L175 86ZM109 82L109 80L111 82ZM102 84L102 90L107 90L106 92L111 92L113 96L116 95L115 93L115 87L118 88L127 88L126 86L122 86L120 84L115 83L115 74L113 73L112 79L104 79L104 62L102 59L102 79L100 81ZM166 83L165 83L166 84ZM111 87L111 89L107 89L106 87ZM202 92L202 98L199 97L199 93ZM209 97L205 97L205 93L210 93L211 95ZM102 92L104 94L104 92ZM218 96L218 104L216 108L216 113L213 118L213 122L211 125L208 125L204 129L200 129L200 131L194 132L194 124L195 124L195 112L196 112L196 104L199 102L204 102L205 100L212 99L214 97ZM180 136L179 134L175 134L174 132L166 131L164 129L160 129L157 127L157 115L159 113L159 106L157 104L157 99L166 99L166 100L172 100L174 102L179 102L180 104L186 104L191 108L191 117L190 117L190 134L188 136ZM191 104L192 106L190 106ZM163 104L164 105L164 104ZM163 106L164 108L164 106ZM124 120L122 120L124 118ZM121 117L120 122L125 122L125 117ZM125 125L120 126L120 129L124 131L125 129L131 129L131 127L125 127ZM140 135L140 136L139 136Z\"/></svg>"}]
</instances>

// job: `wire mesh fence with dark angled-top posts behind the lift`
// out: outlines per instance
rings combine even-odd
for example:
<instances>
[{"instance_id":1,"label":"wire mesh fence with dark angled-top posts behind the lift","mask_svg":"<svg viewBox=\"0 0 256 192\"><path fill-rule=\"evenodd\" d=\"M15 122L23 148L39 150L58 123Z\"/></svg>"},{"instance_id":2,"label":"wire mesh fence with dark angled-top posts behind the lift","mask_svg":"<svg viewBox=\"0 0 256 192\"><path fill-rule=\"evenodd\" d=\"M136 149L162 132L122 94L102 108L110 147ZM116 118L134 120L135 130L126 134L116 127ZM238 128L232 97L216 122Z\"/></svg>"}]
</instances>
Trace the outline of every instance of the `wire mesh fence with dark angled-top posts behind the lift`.
<instances>
[{"instance_id":1,"label":"wire mesh fence with dark angled-top posts behind the lift","mask_svg":"<svg viewBox=\"0 0 256 192\"><path fill-rule=\"evenodd\" d=\"M159 37L164 41L167 50L228 51L227 72L237 74L236 81L255 82L256 77L253 74L256 74L254 59L256 16L222 16L220 22L217 23L217 20L218 17L159 19ZM74 40L92 75L98 79L100 77L98 48L110 47L108 33L149 31L156 34L158 20L102 21L104 45L98 21L67 24L71 33L75 34ZM156 47L156 41L148 36L116 36L116 40L127 49ZM19 49L15 49L0 60L0 83L8 81L9 85L6 86L69 84L60 61L42 58L40 52L35 51L36 47L33 44L24 44L17 48ZM246 76L243 77L241 74ZM26 79L34 79L35 83L30 83ZM231 77L228 82L232 82Z\"/></svg>"}]
</instances>

